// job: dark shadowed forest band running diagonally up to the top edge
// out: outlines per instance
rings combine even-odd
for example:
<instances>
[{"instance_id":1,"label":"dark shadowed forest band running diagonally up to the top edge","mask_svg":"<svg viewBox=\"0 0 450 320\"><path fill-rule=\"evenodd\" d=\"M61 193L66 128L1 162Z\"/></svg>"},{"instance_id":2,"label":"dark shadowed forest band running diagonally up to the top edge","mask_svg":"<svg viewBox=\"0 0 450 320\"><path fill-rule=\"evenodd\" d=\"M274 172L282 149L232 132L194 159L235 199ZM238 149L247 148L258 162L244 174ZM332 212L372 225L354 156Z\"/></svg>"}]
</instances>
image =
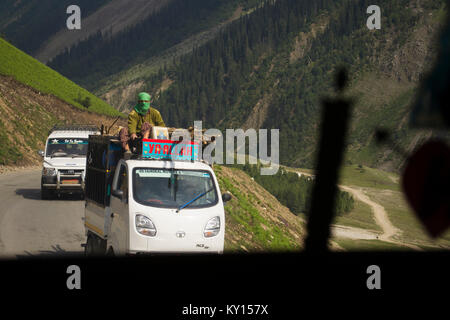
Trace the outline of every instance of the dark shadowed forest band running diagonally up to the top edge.
<instances>
[{"instance_id":1,"label":"dark shadowed forest band running diagonally up to the top edge","mask_svg":"<svg viewBox=\"0 0 450 320\"><path fill-rule=\"evenodd\" d=\"M73 81L95 89L106 77L218 25L231 16L240 2L173 0L158 13L113 37L101 32L90 36L53 58L48 65Z\"/></svg>"}]
</instances>

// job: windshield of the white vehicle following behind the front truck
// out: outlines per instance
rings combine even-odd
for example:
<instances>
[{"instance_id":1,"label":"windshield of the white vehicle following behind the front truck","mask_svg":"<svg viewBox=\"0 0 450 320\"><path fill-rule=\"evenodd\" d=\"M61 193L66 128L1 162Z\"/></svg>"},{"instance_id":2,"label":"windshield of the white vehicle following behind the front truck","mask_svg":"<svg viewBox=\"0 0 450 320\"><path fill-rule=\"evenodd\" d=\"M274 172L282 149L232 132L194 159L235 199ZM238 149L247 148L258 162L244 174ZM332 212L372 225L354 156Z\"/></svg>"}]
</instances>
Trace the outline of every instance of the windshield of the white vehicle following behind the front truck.
<instances>
[{"instance_id":1,"label":"windshield of the white vehicle following behind the front truck","mask_svg":"<svg viewBox=\"0 0 450 320\"><path fill-rule=\"evenodd\" d=\"M47 157L84 157L87 154L88 139L54 138L47 141Z\"/></svg>"}]
</instances>

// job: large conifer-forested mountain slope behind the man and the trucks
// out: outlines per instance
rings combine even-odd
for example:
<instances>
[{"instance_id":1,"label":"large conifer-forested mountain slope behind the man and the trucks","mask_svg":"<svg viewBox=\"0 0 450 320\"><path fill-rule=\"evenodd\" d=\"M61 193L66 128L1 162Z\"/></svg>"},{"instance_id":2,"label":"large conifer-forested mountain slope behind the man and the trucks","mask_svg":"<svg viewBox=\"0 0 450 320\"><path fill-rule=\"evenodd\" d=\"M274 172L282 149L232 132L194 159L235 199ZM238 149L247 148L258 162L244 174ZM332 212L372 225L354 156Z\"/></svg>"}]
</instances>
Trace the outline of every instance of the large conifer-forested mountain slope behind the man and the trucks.
<instances>
[{"instance_id":1,"label":"large conifer-forested mountain slope behind the man and the trucks","mask_svg":"<svg viewBox=\"0 0 450 320\"><path fill-rule=\"evenodd\" d=\"M50 66L123 111L136 92L150 91L171 126L280 129L281 162L312 168L320 99L333 94L333 72L344 65L355 101L346 163L398 171L403 156L377 146L374 132L389 129L405 152L433 135L410 130L408 117L437 51L445 1L380 0L380 30L366 26L371 4L172 0L133 27L92 35Z\"/></svg>"}]
</instances>

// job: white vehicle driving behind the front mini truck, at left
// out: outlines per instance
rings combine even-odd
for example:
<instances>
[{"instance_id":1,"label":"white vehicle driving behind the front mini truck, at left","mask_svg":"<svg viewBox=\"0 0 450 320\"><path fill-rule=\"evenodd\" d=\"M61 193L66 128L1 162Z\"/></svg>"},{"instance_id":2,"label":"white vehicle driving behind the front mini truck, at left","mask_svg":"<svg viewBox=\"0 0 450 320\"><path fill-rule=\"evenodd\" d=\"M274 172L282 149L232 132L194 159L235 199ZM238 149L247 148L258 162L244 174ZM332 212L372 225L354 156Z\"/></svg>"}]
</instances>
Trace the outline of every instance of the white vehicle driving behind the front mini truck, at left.
<instances>
[{"instance_id":1,"label":"white vehicle driving behind the front mini truck, at left","mask_svg":"<svg viewBox=\"0 0 450 320\"><path fill-rule=\"evenodd\" d=\"M61 193L84 193L88 138L100 134L95 126L53 127L47 138L43 157L41 198L51 199Z\"/></svg>"}]
</instances>

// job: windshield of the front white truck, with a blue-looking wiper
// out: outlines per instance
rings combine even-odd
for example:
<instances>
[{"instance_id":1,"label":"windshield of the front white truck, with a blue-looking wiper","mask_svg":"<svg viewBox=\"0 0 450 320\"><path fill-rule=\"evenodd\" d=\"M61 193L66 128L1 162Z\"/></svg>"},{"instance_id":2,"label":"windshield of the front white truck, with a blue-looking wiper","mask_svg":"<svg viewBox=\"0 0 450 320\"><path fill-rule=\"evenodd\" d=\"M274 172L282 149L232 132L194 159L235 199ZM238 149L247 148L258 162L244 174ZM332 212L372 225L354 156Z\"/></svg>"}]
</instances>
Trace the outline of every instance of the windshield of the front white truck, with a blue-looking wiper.
<instances>
[{"instance_id":1,"label":"windshield of the front white truck, with a blue-looking wiper","mask_svg":"<svg viewBox=\"0 0 450 320\"><path fill-rule=\"evenodd\" d=\"M217 203L217 191L208 171L150 168L133 170L134 200L143 205L179 208L205 192L204 196L190 203L188 208L210 207Z\"/></svg>"}]
</instances>

